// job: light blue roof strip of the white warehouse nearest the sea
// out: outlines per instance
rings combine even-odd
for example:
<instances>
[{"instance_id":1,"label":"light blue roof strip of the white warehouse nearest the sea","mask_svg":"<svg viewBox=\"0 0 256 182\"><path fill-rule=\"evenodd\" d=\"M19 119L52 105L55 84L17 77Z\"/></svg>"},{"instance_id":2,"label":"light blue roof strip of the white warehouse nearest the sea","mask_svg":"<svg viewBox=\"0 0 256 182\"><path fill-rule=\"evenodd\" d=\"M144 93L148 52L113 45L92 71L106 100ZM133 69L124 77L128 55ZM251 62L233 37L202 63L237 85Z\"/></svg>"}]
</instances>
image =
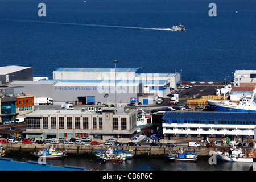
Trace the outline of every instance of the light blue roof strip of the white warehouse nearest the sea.
<instances>
[{"instance_id":1,"label":"light blue roof strip of the white warehouse nearest the sea","mask_svg":"<svg viewBox=\"0 0 256 182\"><path fill-rule=\"evenodd\" d=\"M141 68L117 68L117 72L137 72ZM57 68L56 72L111 72L115 68Z\"/></svg>"}]
</instances>

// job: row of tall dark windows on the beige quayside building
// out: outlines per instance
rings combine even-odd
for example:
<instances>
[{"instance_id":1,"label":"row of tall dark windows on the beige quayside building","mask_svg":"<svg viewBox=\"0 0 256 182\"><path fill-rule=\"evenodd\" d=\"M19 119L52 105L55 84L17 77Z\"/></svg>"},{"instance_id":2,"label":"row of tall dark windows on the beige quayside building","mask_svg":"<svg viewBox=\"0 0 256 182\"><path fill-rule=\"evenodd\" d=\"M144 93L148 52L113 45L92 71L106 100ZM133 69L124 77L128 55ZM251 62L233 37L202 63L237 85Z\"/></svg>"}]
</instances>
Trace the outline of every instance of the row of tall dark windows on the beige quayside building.
<instances>
[{"instance_id":1,"label":"row of tall dark windows on the beige quayside building","mask_svg":"<svg viewBox=\"0 0 256 182\"><path fill-rule=\"evenodd\" d=\"M48 117L43 117L43 129L49 129L49 123L51 124L51 129L57 129L57 121L56 117L51 117L51 121L48 121ZM59 117L59 128L64 129L65 122L64 117ZM103 122L102 118L93 117L92 127L94 130L103 129ZM27 129L40 129L40 118L27 118L26 119L26 127ZM67 129L73 129L73 117L67 117ZM81 126L81 119L80 117L75 117L75 129L89 129L89 118L83 117L82 118L82 126ZM119 129L119 122L118 118L113 118L113 130ZM121 130L127 129L127 119L121 118Z\"/></svg>"}]
</instances>

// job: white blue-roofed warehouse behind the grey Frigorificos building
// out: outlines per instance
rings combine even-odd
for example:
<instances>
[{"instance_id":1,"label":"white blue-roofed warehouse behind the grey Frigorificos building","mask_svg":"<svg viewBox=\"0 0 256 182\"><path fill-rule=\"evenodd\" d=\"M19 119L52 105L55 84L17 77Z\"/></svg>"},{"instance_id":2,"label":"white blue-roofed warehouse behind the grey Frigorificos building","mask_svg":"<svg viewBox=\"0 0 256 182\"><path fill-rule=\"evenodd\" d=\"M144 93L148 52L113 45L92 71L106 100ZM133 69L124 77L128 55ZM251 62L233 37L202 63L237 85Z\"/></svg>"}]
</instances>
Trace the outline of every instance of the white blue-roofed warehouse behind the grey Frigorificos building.
<instances>
[{"instance_id":1,"label":"white blue-roofed warehouse behind the grey Frigorificos building","mask_svg":"<svg viewBox=\"0 0 256 182\"><path fill-rule=\"evenodd\" d=\"M180 73L143 73L142 68L58 68L53 80L119 80L143 83L144 93L164 97L180 82Z\"/></svg>"}]
</instances>

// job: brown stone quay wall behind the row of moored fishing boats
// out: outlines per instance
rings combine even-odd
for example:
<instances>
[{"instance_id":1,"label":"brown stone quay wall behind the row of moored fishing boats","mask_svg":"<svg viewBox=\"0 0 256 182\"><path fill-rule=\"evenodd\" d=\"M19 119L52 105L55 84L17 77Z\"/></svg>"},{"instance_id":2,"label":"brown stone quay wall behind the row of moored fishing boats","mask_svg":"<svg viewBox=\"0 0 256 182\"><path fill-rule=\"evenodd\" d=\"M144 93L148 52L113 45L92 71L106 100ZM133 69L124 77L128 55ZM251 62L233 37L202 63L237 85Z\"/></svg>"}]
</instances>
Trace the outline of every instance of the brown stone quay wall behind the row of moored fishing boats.
<instances>
[{"instance_id":1,"label":"brown stone quay wall behind the row of moored fishing boats","mask_svg":"<svg viewBox=\"0 0 256 182\"><path fill-rule=\"evenodd\" d=\"M47 147L47 144L14 144L7 143L3 144L3 147L6 148L6 153L9 152L11 154L29 154L30 152L42 150L43 147ZM68 154L71 155L85 155L92 156L94 155L94 151L96 150L106 150L112 146L105 145L64 145L64 144L49 144L56 150L67 150ZM114 146L115 147L115 146ZM210 151L226 151L230 147L228 146L215 146L215 147L188 147L188 146L176 146L176 147L167 147L162 144L159 146L119 146L119 149L123 151L133 151L134 156L163 156L166 153L175 153L179 151L181 148L185 151L196 152L199 156L209 156ZM250 153L253 148L244 147L243 150L245 154Z\"/></svg>"}]
</instances>

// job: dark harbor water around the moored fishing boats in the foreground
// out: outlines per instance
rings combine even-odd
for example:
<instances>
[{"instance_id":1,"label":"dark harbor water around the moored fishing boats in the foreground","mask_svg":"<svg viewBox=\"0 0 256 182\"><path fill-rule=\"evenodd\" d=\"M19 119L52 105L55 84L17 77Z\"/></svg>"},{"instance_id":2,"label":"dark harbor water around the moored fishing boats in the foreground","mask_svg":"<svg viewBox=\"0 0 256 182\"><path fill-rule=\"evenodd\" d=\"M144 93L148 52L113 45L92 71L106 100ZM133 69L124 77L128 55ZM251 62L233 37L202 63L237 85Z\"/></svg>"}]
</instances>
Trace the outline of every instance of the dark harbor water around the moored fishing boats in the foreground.
<instances>
[{"instance_id":1,"label":"dark harbor water around the moored fishing boats in the foreground","mask_svg":"<svg viewBox=\"0 0 256 182\"><path fill-rule=\"evenodd\" d=\"M7 155L16 161L37 161L31 155ZM199 158L197 162L171 162L162 156L136 156L119 162L103 162L95 156L71 155L64 159L46 160L48 165L53 166L76 166L85 167L92 171L249 171L253 163L223 162L217 160L216 164L209 164L208 158Z\"/></svg>"}]
</instances>

